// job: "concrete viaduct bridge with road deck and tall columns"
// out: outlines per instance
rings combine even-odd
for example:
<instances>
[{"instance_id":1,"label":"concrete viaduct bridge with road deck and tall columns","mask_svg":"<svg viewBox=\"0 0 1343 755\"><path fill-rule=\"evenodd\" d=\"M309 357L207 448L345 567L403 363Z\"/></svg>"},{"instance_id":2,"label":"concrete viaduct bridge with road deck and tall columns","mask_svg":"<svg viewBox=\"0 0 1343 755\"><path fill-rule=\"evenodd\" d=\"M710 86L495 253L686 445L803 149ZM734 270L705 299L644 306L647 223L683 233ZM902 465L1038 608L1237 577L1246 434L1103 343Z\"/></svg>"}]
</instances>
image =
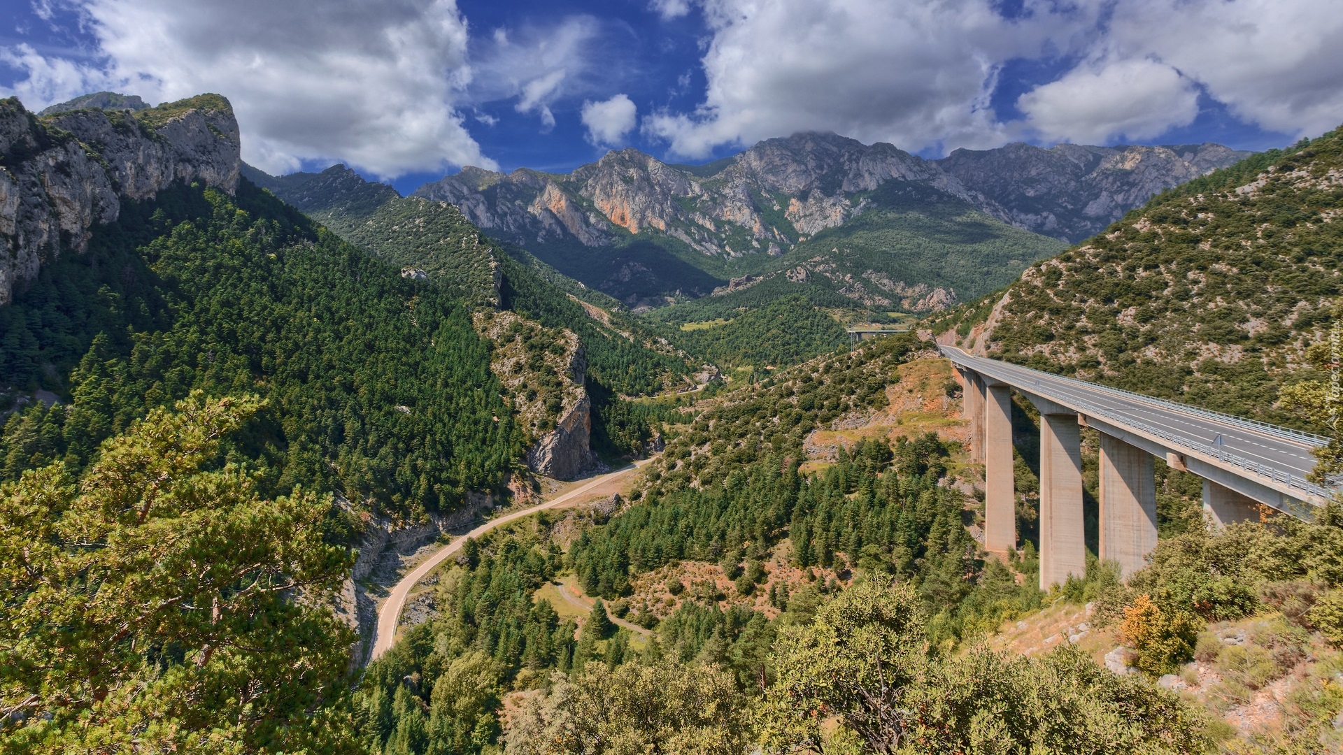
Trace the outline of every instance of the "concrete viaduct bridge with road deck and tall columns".
<instances>
[{"instance_id":1,"label":"concrete viaduct bridge with road deck and tall columns","mask_svg":"<svg viewBox=\"0 0 1343 755\"><path fill-rule=\"evenodd\" d=\"M1100 559L1125 578L1156 547L1154 457L1203 478L1214 525L1257 520L1260 506L1309 519L1336 492L1307 480L1319 435L940 348L964 384L971 461L984 465L988 551L1017 547L1011 390L1039 410L1042 590L1086 568L1081 427L1100 431Z\"/></svg>"}]
</instances>

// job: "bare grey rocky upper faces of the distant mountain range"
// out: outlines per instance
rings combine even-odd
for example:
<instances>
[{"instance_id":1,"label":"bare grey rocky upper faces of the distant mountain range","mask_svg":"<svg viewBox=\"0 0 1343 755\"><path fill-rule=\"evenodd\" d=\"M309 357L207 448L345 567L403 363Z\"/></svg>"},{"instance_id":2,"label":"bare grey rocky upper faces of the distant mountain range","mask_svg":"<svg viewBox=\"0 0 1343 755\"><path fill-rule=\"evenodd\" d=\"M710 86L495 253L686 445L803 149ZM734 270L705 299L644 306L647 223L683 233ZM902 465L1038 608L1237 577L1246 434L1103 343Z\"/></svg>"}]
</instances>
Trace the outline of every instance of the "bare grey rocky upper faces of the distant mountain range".
<instances>
[{"instance_id":1,"label":"bare grey rocky upper faces of the distant mountain range","mask_svg":"<svg viewBox=\"0 0 1343 755\"><path fill-rule=\"evenodd\" d=\"M622 234L651 234L735 258L782 254L841 226L888 181L944 192L1019 228L1076 242L1163 188L1246 154L1215 144L1014 144L929 161L889 144L802 133L708 167L667 165L623 149L567 176L466 168L415 193L455 204L477 226L524 246L607 246Z\"/></svg>"}]
</instances>

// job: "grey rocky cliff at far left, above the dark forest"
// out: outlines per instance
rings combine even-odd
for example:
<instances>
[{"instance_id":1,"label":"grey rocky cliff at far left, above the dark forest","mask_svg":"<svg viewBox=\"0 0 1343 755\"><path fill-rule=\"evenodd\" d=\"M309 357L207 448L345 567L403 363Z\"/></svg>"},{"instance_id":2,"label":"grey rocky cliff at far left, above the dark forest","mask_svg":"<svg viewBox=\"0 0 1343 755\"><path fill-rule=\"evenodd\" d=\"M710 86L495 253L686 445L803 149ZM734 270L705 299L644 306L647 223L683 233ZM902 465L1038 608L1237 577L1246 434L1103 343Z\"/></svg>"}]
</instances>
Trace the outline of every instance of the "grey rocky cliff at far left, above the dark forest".
<instances>
[{"instance_id":1,"label":"grey rocky cliff at far left, above the dark forest","mask_svg":"<svg viewBox=\"0 0 1343 755\"><path fill-rule=\"evenodd\" d=\"M149 199L173 181L232 193L239 165L238 121L223 97L48 117L0 101L0 305L62 253L86 251L122 199Z\"/></svg>"}]
</instances>

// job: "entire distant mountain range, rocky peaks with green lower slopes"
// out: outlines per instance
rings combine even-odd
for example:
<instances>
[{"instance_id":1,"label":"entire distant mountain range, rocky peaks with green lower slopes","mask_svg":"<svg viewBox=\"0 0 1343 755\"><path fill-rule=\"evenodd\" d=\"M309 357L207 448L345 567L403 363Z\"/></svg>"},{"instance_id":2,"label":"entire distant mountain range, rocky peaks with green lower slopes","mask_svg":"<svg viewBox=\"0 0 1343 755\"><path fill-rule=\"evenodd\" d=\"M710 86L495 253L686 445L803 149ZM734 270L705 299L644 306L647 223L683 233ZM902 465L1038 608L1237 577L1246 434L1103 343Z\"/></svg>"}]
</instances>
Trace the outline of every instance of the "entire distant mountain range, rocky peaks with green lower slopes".
<instances>
[{"instance_id":1,"label":"entire distant mountain range, rocky peaks with green lower slopes","mask_svg":"<svg viewBox=\"0 0 1343 755\"><path fill-rule=\"evenodd\" d=\"M1013 145L925 161L889 144L803 133L709 165L667 165L624 149L569 175L467 168L415 193L461 207L488 232L631 308L701 297L743 274L780 274L787 266L774 257L826 232L803 259L884 285L837 278L800 281L802 290L841 290L854 308L927 312L941 309L947 294L964 300L1005 285L1060 249L1034 234L1076 240L1154 192L1242 156L1218 145ZM956 212L928 212L928 202ZM958 227L958 216L970 227ZM847 232L858 218L865 226ZM948 255L956 262L947 265ZM1018 269L1005 265L1011 259ZM921 296L905 293L920 287ZM943 293L927 300L937 287Z\"/></svg>"}]
</instances>

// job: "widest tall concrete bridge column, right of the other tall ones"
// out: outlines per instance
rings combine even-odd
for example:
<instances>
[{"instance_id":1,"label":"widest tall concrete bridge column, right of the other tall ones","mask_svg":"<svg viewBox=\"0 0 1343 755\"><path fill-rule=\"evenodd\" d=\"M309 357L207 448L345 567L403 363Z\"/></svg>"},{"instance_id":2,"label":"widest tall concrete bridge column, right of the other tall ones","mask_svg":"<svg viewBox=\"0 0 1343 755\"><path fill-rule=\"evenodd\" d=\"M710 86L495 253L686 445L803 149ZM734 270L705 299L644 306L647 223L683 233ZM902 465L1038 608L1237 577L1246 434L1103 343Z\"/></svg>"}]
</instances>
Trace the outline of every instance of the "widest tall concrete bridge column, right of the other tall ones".
<instances>
[{"instance_id":1,"label":"widest tall concrete bridge column, right of the other tall ones","mask_svg":"<svg viewBox=\"0 0 1343 755\"><path fill-rule=\"evenodd\" d=\"M1124 579L1156 548L1152 454L1100 435L1100 560L1119 562Z\"/></svg>"}]
</instances>

